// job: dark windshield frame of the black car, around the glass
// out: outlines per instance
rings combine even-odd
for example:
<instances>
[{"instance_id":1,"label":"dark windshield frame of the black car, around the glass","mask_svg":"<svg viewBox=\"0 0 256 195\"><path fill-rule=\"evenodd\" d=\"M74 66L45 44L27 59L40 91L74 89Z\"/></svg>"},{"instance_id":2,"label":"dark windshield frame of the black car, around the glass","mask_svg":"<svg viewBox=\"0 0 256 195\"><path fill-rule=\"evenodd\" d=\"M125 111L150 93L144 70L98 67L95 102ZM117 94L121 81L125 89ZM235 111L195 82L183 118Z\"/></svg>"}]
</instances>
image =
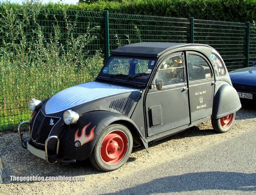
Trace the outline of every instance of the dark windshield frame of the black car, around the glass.
<instances>
[{"instance_id":1,"label":"dark windshield frame of the black car, around the glass","mask_svg":"<svg viewBox=\"0 0 256 195\"><path fill-rule=\"evenodd\" d=\"M154 64L152 65L153 68L151 69L151 73L149 73L148 78L138 78L138 77L133 77L133 75L121 75L121 74L105 74L104 68L109 65L109 62L113 60L113 58L118 57L118 58L136 58L136 59L141 59L141 60L151 60L154 61ZM108 80L110 82L116 82L116 83L123 83L123 84L129 84L132 86L137 86L137 87L144 87L147 86L148 81L152 77L152 74L154 73L154 70L156 68L156 64L158 62L158 58L151 58L151 57L138 57L138 56L118 56L118 55L113 55L110 56L108 61L104 64L102 67L100 73L98 74L96 79L100 80ZM136 74L136 73L135 73ZM114 76L113 76L114 75Z\"/></svg>"}]
</instances>

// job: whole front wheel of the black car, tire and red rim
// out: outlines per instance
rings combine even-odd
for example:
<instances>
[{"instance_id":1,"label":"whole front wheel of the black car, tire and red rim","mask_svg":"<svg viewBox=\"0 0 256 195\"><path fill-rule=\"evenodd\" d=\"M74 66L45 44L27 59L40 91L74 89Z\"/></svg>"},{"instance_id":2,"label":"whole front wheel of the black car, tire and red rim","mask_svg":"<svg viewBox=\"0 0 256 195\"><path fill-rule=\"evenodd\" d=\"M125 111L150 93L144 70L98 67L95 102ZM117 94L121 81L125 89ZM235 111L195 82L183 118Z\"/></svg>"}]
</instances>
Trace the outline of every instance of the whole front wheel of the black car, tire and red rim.
<instances>
[{"instance_id":1,"label":"whole front wheel of the black car, tire and red rim","mask_svg":"<svg viewBox=\"0 0 256 195\"><path fill-rule=\"evenodd\" d=\"M127 162L133 149L133 136L126 126L113 124L101 133L89 156L100 171L113 171Z\"/></svg>"}]
</instances>

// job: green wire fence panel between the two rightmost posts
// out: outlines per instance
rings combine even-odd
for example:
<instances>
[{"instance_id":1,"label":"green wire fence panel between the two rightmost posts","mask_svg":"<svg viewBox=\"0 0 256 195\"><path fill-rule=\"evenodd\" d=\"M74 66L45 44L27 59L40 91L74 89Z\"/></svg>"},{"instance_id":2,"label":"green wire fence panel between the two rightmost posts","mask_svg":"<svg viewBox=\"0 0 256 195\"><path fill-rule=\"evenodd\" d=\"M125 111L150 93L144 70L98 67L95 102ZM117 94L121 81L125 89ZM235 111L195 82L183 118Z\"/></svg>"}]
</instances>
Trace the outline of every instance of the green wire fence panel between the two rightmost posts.
<instances>
[{"instance_id":1,"label":"green wire fence panel between the two rightmost posts","mask_svg":"<svg viewBox=\"0 0 256 195\"><path fill-rule=\"evenodd\" d=\"M195 43L215 48L229 70L240 69L246 62L246 24L195 20Z\"/></svg>"}]
</instances>

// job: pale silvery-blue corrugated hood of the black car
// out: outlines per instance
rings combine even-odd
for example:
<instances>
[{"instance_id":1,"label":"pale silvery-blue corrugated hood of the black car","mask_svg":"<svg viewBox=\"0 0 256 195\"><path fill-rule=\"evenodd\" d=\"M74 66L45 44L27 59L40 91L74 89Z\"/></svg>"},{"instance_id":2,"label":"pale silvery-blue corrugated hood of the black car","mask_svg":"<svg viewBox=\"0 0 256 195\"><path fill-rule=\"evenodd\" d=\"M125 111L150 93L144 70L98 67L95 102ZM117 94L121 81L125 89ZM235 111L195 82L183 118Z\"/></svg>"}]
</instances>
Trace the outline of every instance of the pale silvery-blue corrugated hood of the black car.
<instances>
[{"instance_id":1,"label":"pale silvery-blue corrugated hood of the black car","mask_svg":"<svg viewBox=\"0 0 256 195\"><path fill-rule=\"evenodd\" d=\"M139 90L100 82L79 84L52 96L46 103L46 114L65 111L89 101L132 91Z\"/></svg>"}]
</instances>

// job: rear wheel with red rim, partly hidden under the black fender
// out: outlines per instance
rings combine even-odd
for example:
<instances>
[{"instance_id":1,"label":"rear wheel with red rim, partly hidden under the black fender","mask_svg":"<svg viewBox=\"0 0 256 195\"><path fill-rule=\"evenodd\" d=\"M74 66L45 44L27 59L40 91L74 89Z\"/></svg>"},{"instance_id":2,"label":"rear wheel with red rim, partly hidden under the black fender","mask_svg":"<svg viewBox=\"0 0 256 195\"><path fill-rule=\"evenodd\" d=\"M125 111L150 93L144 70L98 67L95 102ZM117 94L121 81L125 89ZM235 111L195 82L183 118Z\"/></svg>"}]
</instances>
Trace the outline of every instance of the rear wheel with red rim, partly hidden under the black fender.
<instances>
[{"instance_id":1,"label":"rear wheel with red rim, partly hidden under the black fender","mask_svg":"<svg viewBox=\"0 0 256 195\"><path fill-rule=\"evenodd\" d=\"M236 112L218 119L212 119L213 129L218 133L228 132L234 125Z\"/></svg>"}]
</instances>

